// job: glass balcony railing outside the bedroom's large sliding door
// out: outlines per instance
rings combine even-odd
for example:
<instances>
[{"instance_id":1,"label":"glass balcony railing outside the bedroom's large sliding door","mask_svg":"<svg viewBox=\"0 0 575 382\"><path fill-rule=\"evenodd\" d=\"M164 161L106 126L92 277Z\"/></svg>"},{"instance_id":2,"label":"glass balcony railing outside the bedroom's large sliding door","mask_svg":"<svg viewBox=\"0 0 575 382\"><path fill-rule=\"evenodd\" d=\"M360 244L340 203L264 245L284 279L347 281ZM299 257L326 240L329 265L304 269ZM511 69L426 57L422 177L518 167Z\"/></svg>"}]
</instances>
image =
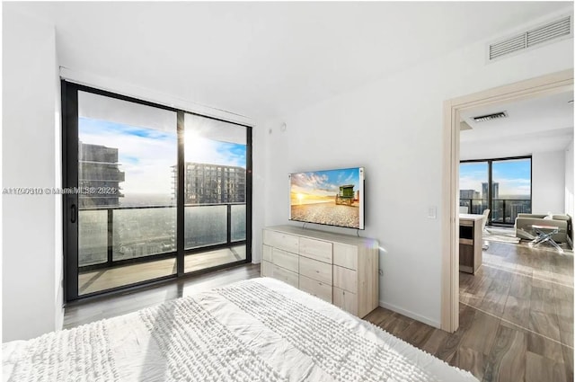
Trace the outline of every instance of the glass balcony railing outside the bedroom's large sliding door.
<instances>
[{"instance_id":1,"label":"glass balcony railing outside the bedroom's large sliding door","mask_svg":"<svg viewBox=\"0 0 575 382\"><path fill-rule=\"evenodd\" d=\"M176 252L176 207L102 207L78 212L78 267L95 269ZM186 205L184 250L245 240L245 203Z\"/></svg>"}]
</instances>

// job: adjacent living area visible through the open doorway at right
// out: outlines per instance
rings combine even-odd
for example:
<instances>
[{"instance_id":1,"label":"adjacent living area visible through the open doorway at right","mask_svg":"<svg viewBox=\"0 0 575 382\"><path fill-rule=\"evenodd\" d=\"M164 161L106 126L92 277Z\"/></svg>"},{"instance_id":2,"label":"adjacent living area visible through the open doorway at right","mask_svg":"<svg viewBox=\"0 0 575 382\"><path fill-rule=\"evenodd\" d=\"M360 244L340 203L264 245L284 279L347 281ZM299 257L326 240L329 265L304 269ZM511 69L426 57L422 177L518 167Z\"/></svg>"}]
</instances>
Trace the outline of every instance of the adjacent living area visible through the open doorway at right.
<instances>
[{"instance_id":1,"label":"adjacent living area visible through the open doorway at right","mask_svg":"<svg viewBox=\"0 0 575 382\"><path fill-rule=\"evenodd\" d=\"M544 348L562 351L557 367L571 359L572 227L563 211L572 203L572 99L554 93L461 114L461 315L471 317L467 333L484 335L482 349L527 343L526 365L548 362Z\"/></svg>"}]
</instances>

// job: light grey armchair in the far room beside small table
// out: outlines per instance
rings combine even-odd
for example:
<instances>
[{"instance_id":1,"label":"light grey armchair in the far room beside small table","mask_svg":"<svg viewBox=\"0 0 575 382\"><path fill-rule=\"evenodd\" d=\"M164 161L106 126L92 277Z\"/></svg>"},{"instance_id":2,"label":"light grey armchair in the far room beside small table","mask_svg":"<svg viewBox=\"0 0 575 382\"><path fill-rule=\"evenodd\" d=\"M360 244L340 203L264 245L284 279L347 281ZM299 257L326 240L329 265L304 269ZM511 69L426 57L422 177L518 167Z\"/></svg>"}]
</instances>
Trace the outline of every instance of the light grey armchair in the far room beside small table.
<instances>
[{"instance_id":1,"label":"light grey armchair in the far room beside small table","mask_svg":"<svg viewBox=\"0 0 575 382\"><path fill-rule=\"evenodd\" d=\"M515 235L522 239L533 240L535 233L531 226L559 227L559 232L552 236L557 243L567 243L571 235L571 217L569 215L517 214Z\"/></svg>"}]
</instances>

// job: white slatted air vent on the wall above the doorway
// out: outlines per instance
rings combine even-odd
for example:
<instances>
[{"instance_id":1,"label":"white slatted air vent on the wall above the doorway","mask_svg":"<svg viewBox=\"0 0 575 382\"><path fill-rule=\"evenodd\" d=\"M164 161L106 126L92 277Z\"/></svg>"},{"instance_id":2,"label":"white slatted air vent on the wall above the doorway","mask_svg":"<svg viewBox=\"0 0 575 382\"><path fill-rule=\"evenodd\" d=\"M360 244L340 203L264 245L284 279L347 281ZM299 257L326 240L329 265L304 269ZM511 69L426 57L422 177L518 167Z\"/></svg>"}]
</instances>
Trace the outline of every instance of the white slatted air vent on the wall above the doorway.
<instances>
[{"instance_id":1,"label":"white slatted air vent on the wall above the doorway","mask_svg":"<svg viewBox=\"0 0 575 382\"><path fill-rule=\"evenodd\" d=\"M489 44L489 60L572 35L571 15Z\"/></svg>"}]
</instances>

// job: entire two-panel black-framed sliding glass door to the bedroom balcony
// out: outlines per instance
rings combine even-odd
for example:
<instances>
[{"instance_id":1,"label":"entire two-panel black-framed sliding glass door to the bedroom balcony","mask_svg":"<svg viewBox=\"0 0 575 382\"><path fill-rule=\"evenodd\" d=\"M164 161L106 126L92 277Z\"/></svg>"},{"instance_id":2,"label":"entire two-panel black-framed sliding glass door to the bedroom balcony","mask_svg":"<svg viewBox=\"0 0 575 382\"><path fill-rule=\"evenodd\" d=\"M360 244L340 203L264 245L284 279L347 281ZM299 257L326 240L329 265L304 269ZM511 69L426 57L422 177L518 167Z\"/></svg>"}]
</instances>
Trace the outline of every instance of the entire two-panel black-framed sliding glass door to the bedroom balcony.
<instances>
[{"instance_id":1,"label":"entire two-panel black-framed sliding glass door to the bedroom balcony","mask_svg":"<svg viewBox=\"0 0 575 382\"><path fill-rule=\"evenodd\" d=\"M62 89L66 300L251 261L250 128Z\"/></svg>"}]
</instances>

